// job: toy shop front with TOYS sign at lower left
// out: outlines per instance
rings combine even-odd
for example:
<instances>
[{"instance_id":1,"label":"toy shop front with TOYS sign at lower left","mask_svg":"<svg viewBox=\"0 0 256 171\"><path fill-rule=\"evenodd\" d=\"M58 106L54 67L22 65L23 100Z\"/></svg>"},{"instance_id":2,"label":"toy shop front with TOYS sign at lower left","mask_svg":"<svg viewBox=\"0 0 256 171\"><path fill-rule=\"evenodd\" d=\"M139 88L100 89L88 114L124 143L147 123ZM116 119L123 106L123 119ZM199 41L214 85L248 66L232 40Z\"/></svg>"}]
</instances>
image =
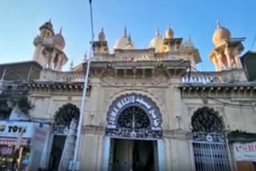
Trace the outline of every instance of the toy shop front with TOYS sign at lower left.
<instances>
[{"instance_id":1,"label":"toy shop front with TOYS sign at lower left","mask_svg":"<svg viewBox=\"0 0 256 171\"><path fill-rule=\"evenodd\" d=\"M37 170L44 160L50 125L31 121L0 121L0 170Z\"/></svg>"}]
</instances>

